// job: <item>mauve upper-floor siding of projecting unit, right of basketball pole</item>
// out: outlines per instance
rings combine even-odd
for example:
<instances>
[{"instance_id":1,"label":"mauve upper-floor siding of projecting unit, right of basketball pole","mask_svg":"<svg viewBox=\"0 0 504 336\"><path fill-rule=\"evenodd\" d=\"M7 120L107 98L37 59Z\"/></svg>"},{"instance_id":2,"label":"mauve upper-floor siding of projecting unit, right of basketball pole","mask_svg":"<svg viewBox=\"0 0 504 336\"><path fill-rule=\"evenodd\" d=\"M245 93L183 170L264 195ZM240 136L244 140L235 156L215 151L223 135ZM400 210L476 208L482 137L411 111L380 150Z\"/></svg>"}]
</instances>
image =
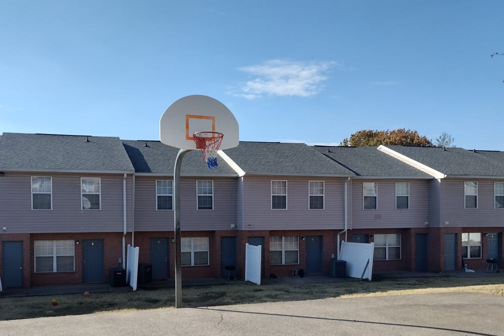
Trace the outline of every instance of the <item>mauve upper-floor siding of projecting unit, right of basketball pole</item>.
<instances>
[{"instance_id":1,"label":"mauve upper-floor siding of projecting unit, right of basketball pole","mask_svg":"<svg viewBox=\"0 0 504 336\"><path fill-rule=\"evenodd\" d=\"M271 180L287 181L287 209L271 209ZM325 209L308 209L308 182L325 181ZM244 176L244 230L318 230L344 227L345 179Z\"/></svg>"}]
</instances>

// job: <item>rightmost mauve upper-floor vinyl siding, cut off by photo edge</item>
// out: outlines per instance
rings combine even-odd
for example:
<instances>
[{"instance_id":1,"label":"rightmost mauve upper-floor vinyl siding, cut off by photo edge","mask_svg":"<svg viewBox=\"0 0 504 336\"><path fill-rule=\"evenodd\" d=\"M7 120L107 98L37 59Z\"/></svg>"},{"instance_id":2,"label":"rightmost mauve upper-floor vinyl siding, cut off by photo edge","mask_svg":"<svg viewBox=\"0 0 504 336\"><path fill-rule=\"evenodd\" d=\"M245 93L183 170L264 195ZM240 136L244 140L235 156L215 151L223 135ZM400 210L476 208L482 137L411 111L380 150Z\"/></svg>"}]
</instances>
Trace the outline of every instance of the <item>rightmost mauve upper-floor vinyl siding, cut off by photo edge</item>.
<instances>
[{"instance_id":1,"label":"rightmost mauve upper-floor vinyl siding, cut off by photo edge","mask_svg":"<svg viewBox=\"0 0 504 336\"><path fill-rule=\"evenodd\" d=\"M478 208L464 209L464 181L478 182ZM441 224L450 227L501 227L504 209L494 209L493 179L443 179ZM497 181L498 182L498 181Z\"/></svg>"}]
</instances>

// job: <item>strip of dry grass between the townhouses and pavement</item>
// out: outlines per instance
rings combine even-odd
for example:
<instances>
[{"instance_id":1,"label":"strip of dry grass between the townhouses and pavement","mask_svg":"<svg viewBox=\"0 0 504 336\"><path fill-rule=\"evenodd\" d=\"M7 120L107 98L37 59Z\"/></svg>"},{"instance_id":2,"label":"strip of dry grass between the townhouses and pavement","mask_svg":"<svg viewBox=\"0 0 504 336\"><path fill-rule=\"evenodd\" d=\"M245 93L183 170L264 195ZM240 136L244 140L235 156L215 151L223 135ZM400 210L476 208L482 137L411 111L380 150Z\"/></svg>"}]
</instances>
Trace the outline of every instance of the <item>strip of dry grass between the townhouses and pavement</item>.
<instances>
[{"instance_id":1,"label":"strip of dry grass between the townhouses and pavement","mask_svg":"<svg viewBox=\"0 0 504 336\"><path fill-rule=\"evenodd\" d=\"M182 289L183 307L206 307L274 301L302 301L338 297L406 295L442 292L479 292L504 296L504 278L401 278L378 281L350 281L297 285L256 286L237 282L231 285ZM51 300L58 301L57 306ZM175 290L161 288L136 292L3 298L0 320L44 316L79 315L111 311L170 308Z\"/></svg>"}]
</instances>

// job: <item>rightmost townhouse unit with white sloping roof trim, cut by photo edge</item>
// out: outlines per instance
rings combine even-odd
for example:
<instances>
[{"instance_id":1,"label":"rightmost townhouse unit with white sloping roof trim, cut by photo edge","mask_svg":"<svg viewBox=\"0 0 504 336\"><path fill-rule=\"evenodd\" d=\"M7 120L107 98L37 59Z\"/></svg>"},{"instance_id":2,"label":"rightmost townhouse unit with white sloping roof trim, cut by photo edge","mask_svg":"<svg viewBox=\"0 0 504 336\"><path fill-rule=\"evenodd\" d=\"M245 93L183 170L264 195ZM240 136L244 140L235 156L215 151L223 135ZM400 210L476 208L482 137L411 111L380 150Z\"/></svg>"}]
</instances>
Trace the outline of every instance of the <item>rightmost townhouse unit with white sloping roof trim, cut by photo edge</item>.
<instances>
[{"instance_id":1,"label":"rightmost townhouse unit with white sloping roof trim, cut by photo edge","mask_svg":"<svg viewBox=\"0 0 504 336\"><path fill-rule=\"evenodd\" d=\"M432 271L502 260L504 153L462 148L380 146L379 151L432 176L429 235Z\"/></svg>"}]
</instances>

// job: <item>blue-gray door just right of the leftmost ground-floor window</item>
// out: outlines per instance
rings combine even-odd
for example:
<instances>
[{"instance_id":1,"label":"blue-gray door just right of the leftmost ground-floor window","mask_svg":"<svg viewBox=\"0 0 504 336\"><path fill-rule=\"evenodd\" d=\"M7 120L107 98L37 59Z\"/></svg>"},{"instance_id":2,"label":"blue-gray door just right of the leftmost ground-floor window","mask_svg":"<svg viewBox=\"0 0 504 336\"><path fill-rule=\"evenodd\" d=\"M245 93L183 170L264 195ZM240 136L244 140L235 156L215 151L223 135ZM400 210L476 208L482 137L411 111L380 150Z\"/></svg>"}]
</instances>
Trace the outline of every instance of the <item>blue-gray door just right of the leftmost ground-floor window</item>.
<instances>
[{"instance_id":1,"label":"blue-gray door just right of the leftmost ground-floor window","mask_svg":"<svg viewBox=\"0 0 504 336\"><path fill-rule=\"evenodd\" d=\"M103 282L103 240L82 241L82 278L84 282Z\"/></svg>"}]
</instances>

